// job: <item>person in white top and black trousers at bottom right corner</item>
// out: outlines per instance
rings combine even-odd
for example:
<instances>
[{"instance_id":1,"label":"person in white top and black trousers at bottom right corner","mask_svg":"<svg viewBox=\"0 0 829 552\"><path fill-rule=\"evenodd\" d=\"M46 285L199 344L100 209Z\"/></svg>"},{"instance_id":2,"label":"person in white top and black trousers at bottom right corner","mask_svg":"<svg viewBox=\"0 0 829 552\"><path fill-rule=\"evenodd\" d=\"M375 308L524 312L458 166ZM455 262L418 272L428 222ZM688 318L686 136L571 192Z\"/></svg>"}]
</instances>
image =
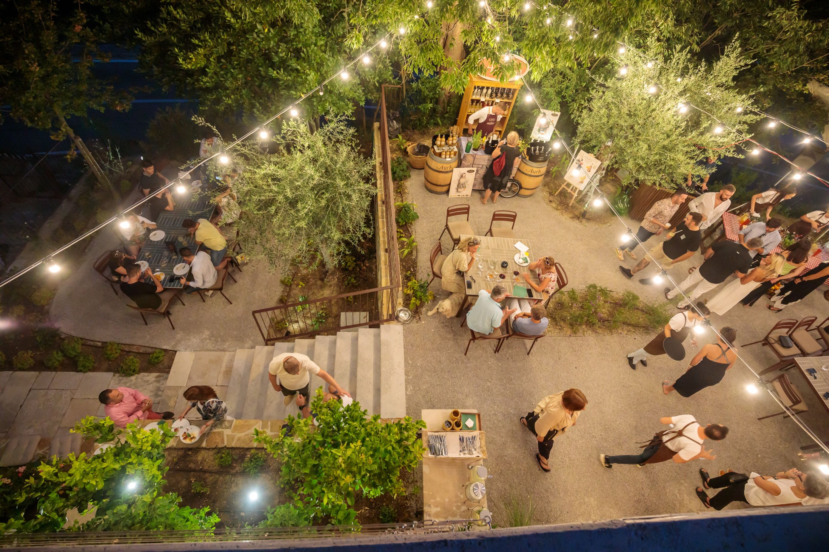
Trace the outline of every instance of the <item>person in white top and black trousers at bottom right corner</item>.
<instances>
[{"instance_id":1,"label":"person in white top and black trousers at bottom right corner","mask_svg":"<svg viewBox=\"0 0 829 552\"><path fill-rule=\"evenodd\" d=\"M809 506L829 496L829 483L817 474L802 473L796 468L765 476L730 472L718 478L710 478L705 468L700 468L700 476L702 487L696 487L696 496L706 508L717 511L735 501L750 506ZM722 491L708 497L705 489Z\"/></svg>"}]
</instances>

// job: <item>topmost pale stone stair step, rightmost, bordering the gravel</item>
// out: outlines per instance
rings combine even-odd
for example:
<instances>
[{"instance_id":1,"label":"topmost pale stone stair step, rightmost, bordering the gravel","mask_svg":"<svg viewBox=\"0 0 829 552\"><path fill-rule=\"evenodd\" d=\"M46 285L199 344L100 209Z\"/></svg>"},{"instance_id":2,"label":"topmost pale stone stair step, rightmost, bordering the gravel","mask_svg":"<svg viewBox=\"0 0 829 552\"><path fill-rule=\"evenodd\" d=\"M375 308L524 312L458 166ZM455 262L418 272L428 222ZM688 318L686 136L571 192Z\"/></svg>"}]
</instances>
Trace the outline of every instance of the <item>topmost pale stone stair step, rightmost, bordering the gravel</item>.
<instances>
[{"instance_id":1,"label":"topmost pale stone stair step, rightmost, bordering the gravel","mask_svg":"<svg viewBox=\"0 0 829 552\"><path fill-rule=\"evenodd\" d=\"M403 363L403 326L380 327L380 417L406 415L406 373Z\"/></svg>"}]
</instances>

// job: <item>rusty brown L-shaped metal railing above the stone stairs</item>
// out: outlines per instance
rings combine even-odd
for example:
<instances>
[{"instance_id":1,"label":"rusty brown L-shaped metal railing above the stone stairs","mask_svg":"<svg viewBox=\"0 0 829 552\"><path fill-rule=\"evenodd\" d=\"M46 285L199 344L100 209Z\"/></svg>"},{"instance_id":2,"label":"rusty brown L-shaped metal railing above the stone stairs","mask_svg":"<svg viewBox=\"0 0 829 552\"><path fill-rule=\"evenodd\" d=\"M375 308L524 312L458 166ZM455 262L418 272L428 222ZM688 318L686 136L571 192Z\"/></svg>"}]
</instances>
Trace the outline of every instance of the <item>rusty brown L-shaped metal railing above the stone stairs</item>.
<instances>
[{"instance_id":1,"label":"rusty brown L-shaped metal railing above the stone stairs","mask_svg":"<svg viewBox=\"0 0 829 552\"><path fill-rule=\"evenodd\" d=\"M401 294L401 280L395 223L395 189L391 181L391 152L385 110L386 88L400 87L389 84L381 86L379 110L380 172L384 197L377 206L377 212L385 215L385 253L388 260L389 283L387 286L377 286L370 290L351 291L321 299L254 310L252 314L256 327L266 345L284 339L383 324L395 319L395 307ZM377 262L380 263L381 252L376 253Z\"/></svg>"}]
</instances>

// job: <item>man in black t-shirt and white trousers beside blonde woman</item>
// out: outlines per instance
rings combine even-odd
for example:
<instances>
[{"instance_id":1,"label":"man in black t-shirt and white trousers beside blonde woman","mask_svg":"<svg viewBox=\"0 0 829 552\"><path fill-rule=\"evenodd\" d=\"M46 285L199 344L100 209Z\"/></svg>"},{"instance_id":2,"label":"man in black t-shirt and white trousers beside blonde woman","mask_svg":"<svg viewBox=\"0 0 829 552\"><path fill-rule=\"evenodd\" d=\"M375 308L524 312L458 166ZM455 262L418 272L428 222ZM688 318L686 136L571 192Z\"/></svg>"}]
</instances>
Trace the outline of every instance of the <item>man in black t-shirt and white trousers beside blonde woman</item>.
<instances>
[{"instance_id":1,"label":"man in black t-shirt and white trousers beside blonde woman","mask_svg":"<svg viewBox=\"0 0 829 552\"><path fill-rule=\"evenodd\" d=\"M716 242L705 252L705 262L699 269L691 271L691 276L681 281L674 290L670 287L665 288L665 298L671 300L679 295L680 290L687 291L696 286L688 299L681 300L676 305L677 309L687 309L691 301L706 291L713 290L730 275L742 278L748 274L751 268L749 252L759 247L763 247L763 240L760 238L751 238L745 245L737 242Z\"/></svg>"}]
</instances>

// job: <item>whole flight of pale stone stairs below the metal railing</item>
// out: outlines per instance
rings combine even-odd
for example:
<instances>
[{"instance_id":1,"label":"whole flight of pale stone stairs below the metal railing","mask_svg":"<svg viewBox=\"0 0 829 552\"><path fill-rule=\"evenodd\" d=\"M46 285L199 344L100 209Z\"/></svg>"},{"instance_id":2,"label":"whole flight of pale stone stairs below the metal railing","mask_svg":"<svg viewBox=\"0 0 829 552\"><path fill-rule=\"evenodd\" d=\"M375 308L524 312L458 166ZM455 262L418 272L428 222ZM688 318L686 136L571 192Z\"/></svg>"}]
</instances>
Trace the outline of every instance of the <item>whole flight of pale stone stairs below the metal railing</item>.
<instances>
[{"instance_id":1,"label":"whole flight of pale stone stairs below the metal railing","mask_svg":"<svg viewBox=\"0 0 829 552\"><path fill-rule=\"evenodd\" d=\"M382 325L358 328L337 335L318 335L293 343L257 345L236 349L225 393L228 415L239 420L284 420L296 415L297 406L284 406L274 391L268 366L281 353L303 353L328 372L369 415L401 418L406 415L403 327ZM325 382L311 378L311 394ZM325 389L323 389L325 391Z\"/></svg>"}]
</instances>

